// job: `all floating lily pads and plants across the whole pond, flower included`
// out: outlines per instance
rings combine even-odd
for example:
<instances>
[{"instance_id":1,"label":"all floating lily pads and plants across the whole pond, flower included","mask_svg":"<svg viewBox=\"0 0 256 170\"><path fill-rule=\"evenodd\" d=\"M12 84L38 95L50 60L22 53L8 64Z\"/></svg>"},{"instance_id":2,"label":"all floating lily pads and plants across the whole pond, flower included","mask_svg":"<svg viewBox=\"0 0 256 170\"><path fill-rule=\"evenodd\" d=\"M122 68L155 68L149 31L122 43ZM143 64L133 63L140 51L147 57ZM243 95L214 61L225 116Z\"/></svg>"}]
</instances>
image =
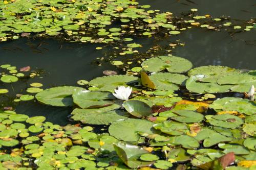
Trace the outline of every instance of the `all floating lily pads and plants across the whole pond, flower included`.
<instances>
[{"instance_id":1,"label":"all floating lily pads and plants across the whole pond, flower included","mask_svg":"<svg viewBox=\"0 0 256 170\"><path fill-rule=\"evenodd\" d=\"M70 124L1 103L0 169L256 167L255 70L193 68L187 59L158 54L160 45L143 56L142 43L133 39L175 37L190 28L245 32L255 29L253 21L198 16L195 8L181 18L132 0L0 1L0 8L0 41L59 37L112 44L115 56L137 55L125 62L109 55L106 60L125 74L105 70L106 76L77 86L45 87L31 82L40 71L1 65L1 97L67 108ZM164 51L183 45L177 40ZM26 87L16 92L13 84L21 81Z\"/></svg>"}]
</instances>

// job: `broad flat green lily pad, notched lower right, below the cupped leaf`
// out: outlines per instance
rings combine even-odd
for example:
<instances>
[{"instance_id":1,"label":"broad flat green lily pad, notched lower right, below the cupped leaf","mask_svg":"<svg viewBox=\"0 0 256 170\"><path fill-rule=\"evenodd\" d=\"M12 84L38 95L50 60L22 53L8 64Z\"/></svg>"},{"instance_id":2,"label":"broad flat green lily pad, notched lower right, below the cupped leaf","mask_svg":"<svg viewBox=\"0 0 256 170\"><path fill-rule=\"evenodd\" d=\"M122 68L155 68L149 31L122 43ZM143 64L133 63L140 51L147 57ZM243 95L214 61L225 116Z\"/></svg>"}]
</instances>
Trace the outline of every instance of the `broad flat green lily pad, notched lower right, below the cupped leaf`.
<instances>
[{"instance_id":1,"label":"broad flat green lily pad, notched lower right, below the cupped leaf","mask_svg":"<svg viewBox=\"0 0 256 170\"><path fill-rule=\"evenodd\" d=\"M139 134L154 134L153 123L144 119L125 119L114 122L109 127L109 133L119 140L138 141Z\"/></svg>"}]
</instances>

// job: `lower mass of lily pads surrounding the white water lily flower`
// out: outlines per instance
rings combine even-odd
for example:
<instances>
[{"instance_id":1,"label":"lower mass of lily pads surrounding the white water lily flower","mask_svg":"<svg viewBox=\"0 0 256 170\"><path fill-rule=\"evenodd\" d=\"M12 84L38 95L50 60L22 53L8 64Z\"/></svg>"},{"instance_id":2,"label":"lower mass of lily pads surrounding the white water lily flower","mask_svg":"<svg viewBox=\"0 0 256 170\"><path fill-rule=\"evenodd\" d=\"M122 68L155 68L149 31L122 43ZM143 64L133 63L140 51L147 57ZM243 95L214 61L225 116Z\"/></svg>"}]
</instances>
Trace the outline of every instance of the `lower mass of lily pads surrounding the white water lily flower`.
<instances>
[{"instance_id":1,"label":"lower mass of lily pads surrounding the white water lily flower","mask_svg":"<svg viewBox=\"0 0 256 170\"><path fill-rule=\"evenodd\" d=\"M135 69L140 77L110 75L80 80L80 87L40 88L35 99L73 107L75 123L61 127L45 122L44 116L2 111L0 165L3 169L254 169L255 72L192 67L186 59L159 56ZM245 99L249 91L251 98ZM34 99L27 92L33 97L28 100ZM224 92L241 97L217 99ZM196 101L195 96L203 100Z\"/></svg>"}]
</instances>

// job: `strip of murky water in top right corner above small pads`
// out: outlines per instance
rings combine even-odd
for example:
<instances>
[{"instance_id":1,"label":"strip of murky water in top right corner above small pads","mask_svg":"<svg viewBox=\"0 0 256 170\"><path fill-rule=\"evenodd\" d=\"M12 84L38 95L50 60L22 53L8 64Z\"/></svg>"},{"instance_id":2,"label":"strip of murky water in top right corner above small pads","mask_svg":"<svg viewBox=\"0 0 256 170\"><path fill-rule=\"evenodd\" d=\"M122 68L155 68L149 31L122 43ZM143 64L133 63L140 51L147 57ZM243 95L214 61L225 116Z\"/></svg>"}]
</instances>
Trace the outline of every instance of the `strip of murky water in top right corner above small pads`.
<instances>
[{"instance_id":1,"label":"strip of murky water in top right corner above small pads","mask_svg":"<svg viewBox=\"0 0 256 170\"><path fill-rule=\"evenodd\" d=\"M151 5L151 9L172 12L176 16L198 9L198 15L210 14L212 17L230 16L234 19L255 19L254 0L138 0L140 4Z\"/></svg>"}]
</instances>

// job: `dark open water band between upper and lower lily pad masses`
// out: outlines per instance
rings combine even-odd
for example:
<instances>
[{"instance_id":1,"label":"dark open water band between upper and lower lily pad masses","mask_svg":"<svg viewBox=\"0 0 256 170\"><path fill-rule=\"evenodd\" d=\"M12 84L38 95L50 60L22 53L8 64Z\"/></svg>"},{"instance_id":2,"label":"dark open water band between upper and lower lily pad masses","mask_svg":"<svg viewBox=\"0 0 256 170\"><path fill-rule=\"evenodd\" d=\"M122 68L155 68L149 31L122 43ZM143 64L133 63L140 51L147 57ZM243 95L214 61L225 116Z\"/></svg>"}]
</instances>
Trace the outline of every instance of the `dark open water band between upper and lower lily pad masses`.
<instances>
[{"instance_id":1,"label":"dark open water band between upper and lower lily pad masses","mask_svg":"<svg viewBox=\"0 0 256 170\"><path fill-rule=\"evenodd\" d=\"M173 50L173 55L191 61L195 67L203 65L225 65L240 69L254 69L254 54L256 53L255 31L238 33L230 36L228 32L213 32L203 29L190 29L182 34L170 36L154 42L153 38L136 38L135 42L143 44L141 52L147 51L154 44L166 46L170 42L180 40L184 46ZM115 70L109 62L98 66L98 59L105 57L107 50L95 50L98 44L61 42L57 39L27 39L22 38L0 44L0 63L11 63L17 67L30 65L35 70L44 73L28 81L13 84L14 93L11 98L1 96L2 105L14 106L19 113L29 116L45 115L47 120L59 125L68 122L72 108L52 107L37 102L12 103L13 95L23 91L31 82L44 84L44 88L60 85L76 85L78 80L92 80L103 76L103 70ZM164 54L162 54L164 55ZM131 57L129 57L131 58ZM124 57L121 57L125 61ZM136 65L138 66L138 65ZM1 88L10 89L10 85L0 85Z\"/></svg>"}]
</instances>

